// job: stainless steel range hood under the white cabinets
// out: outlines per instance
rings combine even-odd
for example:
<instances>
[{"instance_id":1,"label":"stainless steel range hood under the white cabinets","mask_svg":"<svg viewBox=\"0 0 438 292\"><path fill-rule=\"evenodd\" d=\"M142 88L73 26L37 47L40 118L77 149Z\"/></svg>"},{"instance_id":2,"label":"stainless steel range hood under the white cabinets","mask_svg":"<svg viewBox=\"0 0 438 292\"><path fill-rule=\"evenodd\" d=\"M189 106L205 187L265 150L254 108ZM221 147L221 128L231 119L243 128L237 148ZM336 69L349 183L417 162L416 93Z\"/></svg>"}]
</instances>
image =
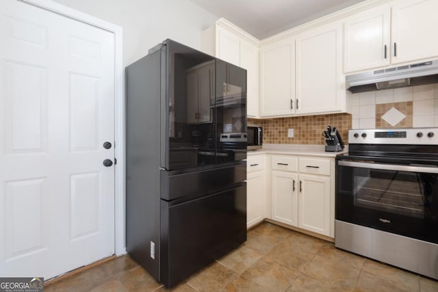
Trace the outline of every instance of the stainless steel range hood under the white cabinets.
<instances>
[{"instance_id":1,"label":"stainless steel range hood under the white cabinets","mask_svg":"<svg viewBox=\"0 0 438 292\"><path fill-rule=\"evenodd\" d=\"M346 76L352 93L438 83L438 60Z\"/></svg>"}]
</instances>

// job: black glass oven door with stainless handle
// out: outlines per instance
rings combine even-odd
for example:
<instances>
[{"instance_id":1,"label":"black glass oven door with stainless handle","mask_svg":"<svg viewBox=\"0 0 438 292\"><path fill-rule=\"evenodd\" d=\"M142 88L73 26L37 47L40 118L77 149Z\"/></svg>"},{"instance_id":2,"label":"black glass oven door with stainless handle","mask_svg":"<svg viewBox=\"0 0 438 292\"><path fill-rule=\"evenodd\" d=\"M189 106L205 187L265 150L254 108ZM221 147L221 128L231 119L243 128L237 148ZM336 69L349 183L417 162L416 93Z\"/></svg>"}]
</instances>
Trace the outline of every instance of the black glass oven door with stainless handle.
<instances>
[{"instance_id":1,"label":"black glass oven door with stainless handle","mask_svg":"<svg viewBox=\"0 0 438 292\"><path fill-rule=\"evenodd\" d=\"M438 168L337 160L336 219L438 243Z\"/></svg>"}]
</instances>

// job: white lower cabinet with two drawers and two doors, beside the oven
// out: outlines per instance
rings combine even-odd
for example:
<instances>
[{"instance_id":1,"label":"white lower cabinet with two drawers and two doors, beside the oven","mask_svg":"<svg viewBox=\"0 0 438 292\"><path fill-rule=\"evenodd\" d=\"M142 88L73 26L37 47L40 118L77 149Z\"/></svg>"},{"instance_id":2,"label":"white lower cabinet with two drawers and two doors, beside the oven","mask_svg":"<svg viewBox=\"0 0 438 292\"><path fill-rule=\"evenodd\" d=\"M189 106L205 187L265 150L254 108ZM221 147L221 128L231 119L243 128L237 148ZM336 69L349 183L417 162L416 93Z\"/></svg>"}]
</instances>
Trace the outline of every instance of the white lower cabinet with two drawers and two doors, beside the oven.
<instances>
[{"instance_id":1,"label":"white lower cabinet with two drawers and two doors, beside the oven","mask_svg":"<svg viewBox=\"0 0 438 292\"><path fill-rule=\"evenodd\" d=\"M272 155L272 220L334 237L331 174L331 158Z\"/></svg>"}]
</instances>

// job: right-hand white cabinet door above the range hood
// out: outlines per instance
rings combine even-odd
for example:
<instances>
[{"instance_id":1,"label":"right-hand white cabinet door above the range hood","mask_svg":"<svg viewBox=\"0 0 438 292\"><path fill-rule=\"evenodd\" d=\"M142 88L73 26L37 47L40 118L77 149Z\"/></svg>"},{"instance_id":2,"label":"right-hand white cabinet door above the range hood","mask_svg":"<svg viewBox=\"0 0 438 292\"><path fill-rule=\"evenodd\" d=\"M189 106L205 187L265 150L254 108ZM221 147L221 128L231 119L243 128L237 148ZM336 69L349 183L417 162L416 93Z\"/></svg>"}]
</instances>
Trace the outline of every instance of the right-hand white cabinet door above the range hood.
<instances>
[{"instance_id":1,"label":"right-hand white cabinet door above the range hood","mask_svg":"<svg viewBox=\"0 0 438 292\"><path fill-rule=\"evenodd\" d=\"M437 11L437 0L394 1L392 63L438 56Z\"/></svg>"}]
</instances>

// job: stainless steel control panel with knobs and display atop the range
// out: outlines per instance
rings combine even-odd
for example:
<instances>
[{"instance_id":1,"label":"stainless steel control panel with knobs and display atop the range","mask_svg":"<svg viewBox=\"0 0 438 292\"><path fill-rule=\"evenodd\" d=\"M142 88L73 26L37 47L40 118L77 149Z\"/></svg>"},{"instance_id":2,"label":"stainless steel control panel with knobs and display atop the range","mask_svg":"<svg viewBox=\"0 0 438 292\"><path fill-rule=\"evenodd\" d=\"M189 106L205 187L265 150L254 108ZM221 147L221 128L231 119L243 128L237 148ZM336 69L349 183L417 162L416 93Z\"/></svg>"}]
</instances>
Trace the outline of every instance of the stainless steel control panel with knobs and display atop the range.
<instances>
[{"instance_id":1,"label":"stainless steel control panel with knobs and display atop the range","mask_svg":"<svg viewBox=\"0 0 438 292\"><path fill-rule=\"evenodd\" d=\"M348 144L438 144L438 128L352 129Z\"/></svg>"}]
</instances>

